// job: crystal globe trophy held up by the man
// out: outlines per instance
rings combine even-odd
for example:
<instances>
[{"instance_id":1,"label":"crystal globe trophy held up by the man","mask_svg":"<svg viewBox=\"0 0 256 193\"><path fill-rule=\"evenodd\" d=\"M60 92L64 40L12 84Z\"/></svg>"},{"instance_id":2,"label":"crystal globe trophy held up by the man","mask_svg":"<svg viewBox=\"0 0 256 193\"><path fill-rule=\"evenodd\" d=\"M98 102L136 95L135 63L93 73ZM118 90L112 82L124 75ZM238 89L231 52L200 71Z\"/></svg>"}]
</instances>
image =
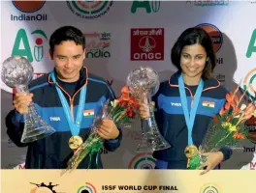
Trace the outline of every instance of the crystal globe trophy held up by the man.
<instances>
[{"instance_id":1,"label":"crystal globe trophy held up by the man","mask_svg":"<svg viewBox=\"0 0 256 193\"><path fill-rule=\"evenodd\" d=\"M34 69L26 58L9 57L3 62L1 69L1 79L8 87L16 88L17 93L29 93L28 84L33 77ZM39 116L34 102L30 102L28 113L24 114L21 143L34 142L54 132L55 129Z\"/></svg>"}]
</instances>

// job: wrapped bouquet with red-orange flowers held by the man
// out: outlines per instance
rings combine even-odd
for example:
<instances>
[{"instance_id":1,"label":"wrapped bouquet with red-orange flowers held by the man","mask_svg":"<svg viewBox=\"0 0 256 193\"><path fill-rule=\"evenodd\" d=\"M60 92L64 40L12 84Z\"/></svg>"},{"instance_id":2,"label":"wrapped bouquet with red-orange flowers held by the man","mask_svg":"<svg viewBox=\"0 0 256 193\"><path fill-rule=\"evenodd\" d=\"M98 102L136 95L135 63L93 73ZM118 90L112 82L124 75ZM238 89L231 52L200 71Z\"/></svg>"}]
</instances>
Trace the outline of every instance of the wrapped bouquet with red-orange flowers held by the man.
<instances>
[{"instance_id":1,"label":"wrapped bouquet with red-orange flowers held by the man","mask_svg":"<svg viewBox=\"0 0 256 193\"><path fill-rule=\"evenodd\" d=\"M62 175L67 171L71 172L72 170L77 169L80 162L86 156L90 156L88 168L90 168L92 161L95 161L96 165L98 166L99 156L96 156L96 160L92 160L92 155L94 153L101 152L101 148L105 140L98 135L97 125L101 124L102 120L108 119L112 120L118 128L129 126L135 118L135 112L138 106L139 104L137 103L135 97L131 96L127 86L124 86L121 89L121 96L119 98L114 99L113 101L107 100L107 102L103 104L99 113L97 113L97 115L94 117L87 139L70 158L67 164L68 166Z\"/></svg>"}]
</instances>

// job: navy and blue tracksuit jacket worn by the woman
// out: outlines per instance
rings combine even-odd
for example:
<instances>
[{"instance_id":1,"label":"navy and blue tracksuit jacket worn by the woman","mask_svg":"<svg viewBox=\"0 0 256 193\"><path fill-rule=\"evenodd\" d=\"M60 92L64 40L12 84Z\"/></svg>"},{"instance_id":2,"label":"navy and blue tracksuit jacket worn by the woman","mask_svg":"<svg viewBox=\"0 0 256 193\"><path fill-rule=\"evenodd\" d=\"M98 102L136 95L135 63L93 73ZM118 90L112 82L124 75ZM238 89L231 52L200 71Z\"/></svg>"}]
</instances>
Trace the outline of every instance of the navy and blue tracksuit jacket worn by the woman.
<instances>
[{"instance_id":1,"label":"navy and blue tracksuit jacket worn by the woman","mask_svg":"<svg viewBox=\"0 0 256 193\"><path fill-rule=\"evenodd\" d=\"M187 146L188 129L178 91L178 75L177 71L169 80L162 82L158 93L153 96L157 108L155 113L157 125L163 137L172 146L167 150L153 152L153 157L157 159L157 169L186 169L187 166L184 150ZM187 102L191 103L197 85L185 85L185 87ZM202 144L208 124L213 115L218 114L224 105L226 94L227 90L216 79L210 78L205 81L192 131L195 146L199 147ZM206 108L206 103L210 103L211 108ZM222 148L220 152L223 153L224 160L229 159L232 154L228 148Z\"/></svg>"}]
</instances>

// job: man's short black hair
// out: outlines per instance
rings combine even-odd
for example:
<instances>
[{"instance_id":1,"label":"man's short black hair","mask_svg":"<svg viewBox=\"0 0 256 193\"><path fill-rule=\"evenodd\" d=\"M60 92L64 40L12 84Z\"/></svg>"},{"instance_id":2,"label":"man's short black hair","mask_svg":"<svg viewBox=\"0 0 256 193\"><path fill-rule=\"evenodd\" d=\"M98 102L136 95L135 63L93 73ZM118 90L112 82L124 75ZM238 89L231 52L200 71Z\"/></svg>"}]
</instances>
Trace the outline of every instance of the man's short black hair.
<instances>
[{"instance_id":1,"label":"man's short black hair","mask_svg":"<svg viewBox=\"0 0 256 193\"><path fill-rule=\"evenodd\" d=\"M77 45L85 48L85 38L81 31L73 26L63 26L55 30L49 38L50 51L54 52L54 46L60 44L62 41L75 41Z\"/></svg>"}]
</instances>

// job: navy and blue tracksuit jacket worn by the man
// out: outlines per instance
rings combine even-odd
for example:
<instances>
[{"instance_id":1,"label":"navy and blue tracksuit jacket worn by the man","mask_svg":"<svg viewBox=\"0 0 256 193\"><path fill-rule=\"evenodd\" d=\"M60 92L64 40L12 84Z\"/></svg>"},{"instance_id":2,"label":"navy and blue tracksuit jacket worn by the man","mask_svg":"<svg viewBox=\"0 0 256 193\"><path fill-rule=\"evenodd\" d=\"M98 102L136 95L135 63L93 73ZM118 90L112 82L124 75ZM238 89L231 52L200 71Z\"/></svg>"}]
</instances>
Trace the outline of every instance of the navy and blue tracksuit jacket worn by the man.
<instances>
[{"instance_id":1,"label":"navy and blue tracksuit jacket worn by the man","mask_svg":"<svg viewBox=\"0 0 256 193\"><path fill-rule=\"evenodd\" d=\"M86 68L80 70L79 84L80 89L87 86L84 110L94 112L94 115L97 114L102 104L106 102L107 99L114 99L112 89L107 82L98 76L88 73ZM29 89L30 93L34 95L33 102L36 105L39 115L47 124L50 124L56 132L36 142L22 144L20 139L24 127L23 116L17 113L16 110L13 110L6 118L7 133L16 146L28 146L25 162L26 169L64 169L67 167L69 158L74 153L69 148L68 144L72 133L57 94L55 84L52 82L50 74L48 73L31 81ZM60 87L60 89L63 91L67 101L69 101L70 109L76 119L80 102L80 89L74 96L69 96L65 88ZM82 118L80 126L80 137L82 137L83 140L87 138L90 131L89 128L93 121L93 116L85 115ZM104 147L107 151L115 151L120 146L121 138L122 132L120 130L118 138L115 140L106 140ZM92 160L95 160L96 156L97 155L94 154ZM88 163L89 156L80 163L79 168L86 169ZM102 168L100 155L99 164L100 168ZM96 168L95 161L92 161L90 168Z\"/></svg>"}]
</instances>

